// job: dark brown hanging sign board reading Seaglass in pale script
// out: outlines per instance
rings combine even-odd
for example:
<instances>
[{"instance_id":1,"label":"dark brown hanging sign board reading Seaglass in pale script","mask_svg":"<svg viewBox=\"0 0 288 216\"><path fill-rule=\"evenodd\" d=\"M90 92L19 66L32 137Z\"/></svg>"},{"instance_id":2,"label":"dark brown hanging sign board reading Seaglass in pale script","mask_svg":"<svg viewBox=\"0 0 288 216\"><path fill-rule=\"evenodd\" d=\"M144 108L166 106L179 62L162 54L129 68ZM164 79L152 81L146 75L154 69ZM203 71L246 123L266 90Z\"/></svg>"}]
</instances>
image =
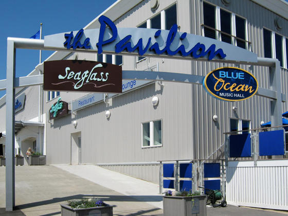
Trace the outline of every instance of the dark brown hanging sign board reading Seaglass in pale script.
<instances>
[{"instance_id":1,"label":"dark brown hanging sign board reading Seaglass in pale script","mask_svg":"<svg viewBox=\"0 0 288 216\"><path fill-rule=\"evenodd\" d=\"M46 61L44 90L122 93L122 67L84 60Z\"/></svg>"}]
</instances>

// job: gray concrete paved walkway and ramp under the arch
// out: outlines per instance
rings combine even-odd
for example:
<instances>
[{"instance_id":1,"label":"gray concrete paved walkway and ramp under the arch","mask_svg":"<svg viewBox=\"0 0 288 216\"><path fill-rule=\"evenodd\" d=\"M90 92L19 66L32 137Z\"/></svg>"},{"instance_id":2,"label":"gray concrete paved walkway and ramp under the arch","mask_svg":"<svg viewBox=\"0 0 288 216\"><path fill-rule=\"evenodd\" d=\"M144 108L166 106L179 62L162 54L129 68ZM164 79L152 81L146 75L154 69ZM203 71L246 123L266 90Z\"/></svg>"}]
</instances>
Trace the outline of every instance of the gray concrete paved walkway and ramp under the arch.
<instances>
[{"instance_id":1,"label":"gray concrete paved walkway and ramp under the arch","mask_svg":"<svg viewBox=\"0 0 288 216\"><path fill-rule=\"evenodd\" d=\"M99 197L115 205L114 215L163 215L158 185L94 165L22 166L15 168L15 205L5 211L5 167L0 167L0 215L60 215L70 199ZM208 216L268 216L287 212L236 206L207 208ZM178 216L178 215L175 215ZM179 215L181 216L181 215Z\"/></svg>"}]
</instances>

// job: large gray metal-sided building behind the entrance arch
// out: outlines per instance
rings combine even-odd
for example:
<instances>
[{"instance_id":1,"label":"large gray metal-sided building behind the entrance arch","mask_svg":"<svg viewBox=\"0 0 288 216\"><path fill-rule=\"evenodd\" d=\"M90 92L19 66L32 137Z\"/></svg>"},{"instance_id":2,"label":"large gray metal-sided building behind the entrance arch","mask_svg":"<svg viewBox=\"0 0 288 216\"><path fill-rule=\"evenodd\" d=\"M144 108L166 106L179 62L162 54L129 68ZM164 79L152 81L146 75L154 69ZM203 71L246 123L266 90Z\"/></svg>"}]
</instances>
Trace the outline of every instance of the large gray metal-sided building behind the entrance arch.
<instances>
[{"instance_id":1,"label":"large gray metal-sided building behind the entrance arch","mask_svg":"<svg viewBox=\"0 0 288 216\"><path fill-rule=\"evenodd\" d=\"M117 27L168 29L176 23L179 31L214 38L255 52L258 57L277 58L281 64L282 112L287 106L288 4L282 0L119 0L101 15ZM98 17L84 29L99 28ZM72 29L73 30L73 29ZM237 53L236 53L237 54ZM179 60L57 51L46 61L60 59L102 60L118 63L123 70L153 70L205 76L223 66L249 71L259 87L270 88L268 67L217 62ZM43 71L38 65L31 74ZM211 97L202 83L139 82L118 95L43 92L39 87L21 89L25 109L16 113L24 129L38 122L34 135L16 134L25 154L27 138L36 141L46 154L47 164L98 164L132 176L158 182L160 160L219 159L224 157L224 132L260 128L271 120L271 100L256 95L244 101L227 102ZM127 91L126 91L127 90ZM69 103L70 113L53 120L48 112L58 97ZM94 96L87 106L74 103ZM158 104L152 98L158 97ZM94 100L93 99L93 100ZM4 98L0 99L5 119ZM40 106L29 104L39 103ZM237 108L235 108L237 107ZM106 117L109 111L110 118ZM213 120L217 115L218 120ZM41 125L40 125L41 124ZM43 124L43 125L42 125ZM44 126L45 125L45 126ZM1 124L5 131L5 124ZM35 129L37 130L37 129ZM27 132L28 133L28 132ZM25 134L25 133L24 133ZM37 135L38 134L38 135ZM39 135L41 134L41 135ZM2 138L3 139L3 138ZM286 149L288 151L288 149Z\"/></svg>"}]
</instances>

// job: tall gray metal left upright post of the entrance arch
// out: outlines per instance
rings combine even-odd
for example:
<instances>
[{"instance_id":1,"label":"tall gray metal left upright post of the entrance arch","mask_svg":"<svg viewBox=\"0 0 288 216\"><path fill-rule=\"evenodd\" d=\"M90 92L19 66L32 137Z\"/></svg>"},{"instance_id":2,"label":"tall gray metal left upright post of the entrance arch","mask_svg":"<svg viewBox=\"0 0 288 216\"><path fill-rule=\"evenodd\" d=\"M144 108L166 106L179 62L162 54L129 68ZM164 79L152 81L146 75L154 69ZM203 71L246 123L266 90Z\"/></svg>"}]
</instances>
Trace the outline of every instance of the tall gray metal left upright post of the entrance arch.
<instances>
[{"instance_id":1,"label":"tall gray metal left upright post of the entrance arch","mask_svg":"<svg viewBox=\"0 0 288 216\"><path fill-rule=\"evenodd\" d=\"M7 40L7 73L6 73L6 211L15 206L15 54L13 40Z\"/></svg>"}]
</instances>

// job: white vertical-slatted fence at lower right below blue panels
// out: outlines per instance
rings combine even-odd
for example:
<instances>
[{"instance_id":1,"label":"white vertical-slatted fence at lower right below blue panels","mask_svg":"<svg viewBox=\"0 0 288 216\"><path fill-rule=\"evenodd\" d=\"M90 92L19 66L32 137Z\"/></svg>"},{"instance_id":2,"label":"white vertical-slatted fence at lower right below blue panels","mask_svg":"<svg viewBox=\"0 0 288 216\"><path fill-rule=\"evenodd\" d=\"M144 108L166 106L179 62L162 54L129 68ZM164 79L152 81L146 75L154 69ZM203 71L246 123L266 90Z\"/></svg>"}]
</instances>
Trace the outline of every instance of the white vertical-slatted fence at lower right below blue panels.
<instances>
[{"instance_id":1,"label":"white vertical-slatted fence at lower right below blue panels","mask_svg":"<svg viewBox=\"0 0 288 216\"><path fill-rule=\"evenodd\" d=\"M283 160L273 161L271 166L249 164L251 162L241 161L238 166L228 165L228 204L288 210L288 166L283 166Z\"/></svg>"}]
</instances>

